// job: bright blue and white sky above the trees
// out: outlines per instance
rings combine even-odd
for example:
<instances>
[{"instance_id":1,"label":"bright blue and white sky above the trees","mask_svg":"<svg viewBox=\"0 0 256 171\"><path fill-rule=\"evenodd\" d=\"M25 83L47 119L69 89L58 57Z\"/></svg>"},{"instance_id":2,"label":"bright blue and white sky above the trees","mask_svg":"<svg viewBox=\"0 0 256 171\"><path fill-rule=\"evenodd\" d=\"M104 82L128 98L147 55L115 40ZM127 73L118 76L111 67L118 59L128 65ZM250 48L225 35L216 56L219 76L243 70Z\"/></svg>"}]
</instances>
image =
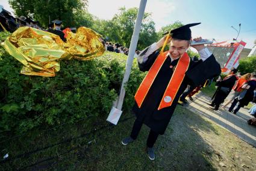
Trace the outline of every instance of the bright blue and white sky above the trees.
<instances>
[{"instance_id":1,"label":"bright blue and white sky above the trees","mask_svg":"<svg viewBox=\"0 0 256 171\"><path fill-rule=\"evenodd\" d=\"M13 11L8 0L1 0L5 10ZM133 8L140 0L89 0L88 11L99 19L111 19L120 7ZM255 0L148 0L145 11L151 13L155 28L179 20L183 24L201 22L191 28L192 37L215 39L217 42L237 37L234 26L241 30L238 40L246 42L245 48L252 48L256 39Z\"/></svg>"}]
</instances>

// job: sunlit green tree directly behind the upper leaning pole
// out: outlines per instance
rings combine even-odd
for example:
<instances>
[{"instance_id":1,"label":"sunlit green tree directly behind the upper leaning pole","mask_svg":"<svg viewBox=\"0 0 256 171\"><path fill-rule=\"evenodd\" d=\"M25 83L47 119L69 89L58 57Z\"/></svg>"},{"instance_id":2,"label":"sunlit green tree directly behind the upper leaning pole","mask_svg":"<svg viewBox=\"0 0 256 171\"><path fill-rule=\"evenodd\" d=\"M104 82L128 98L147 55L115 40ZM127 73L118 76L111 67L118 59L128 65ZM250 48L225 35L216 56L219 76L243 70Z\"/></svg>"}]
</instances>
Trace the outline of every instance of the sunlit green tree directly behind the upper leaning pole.
<instances>
[{"instance_id":1,"label":"sunlit green tree directly behind the upper leaning pole","mask_svg":"<svg viewBox=\"0 0 256 171\"><path fill-rule=\"evenodd\" d=\"M133 30L136 23L138 8L120 8L119 13L115 14L111 20L96 19L93 29L104 37L108 37L110 42L118 42L123 46L129 47ZM155 23L151 19L150 13L143 16L142 26L140 29L139 41L137 48L143 49L157 41Z\"/></svg>"}]
</instances>

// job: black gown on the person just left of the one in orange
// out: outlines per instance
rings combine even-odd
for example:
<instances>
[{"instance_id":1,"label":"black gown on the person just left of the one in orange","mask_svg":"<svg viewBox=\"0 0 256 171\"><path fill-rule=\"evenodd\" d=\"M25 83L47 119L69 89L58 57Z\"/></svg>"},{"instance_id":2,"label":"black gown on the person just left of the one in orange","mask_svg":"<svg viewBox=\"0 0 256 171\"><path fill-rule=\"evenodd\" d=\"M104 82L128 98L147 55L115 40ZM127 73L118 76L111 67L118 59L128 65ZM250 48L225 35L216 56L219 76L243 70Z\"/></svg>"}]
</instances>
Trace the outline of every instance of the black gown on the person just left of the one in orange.
<instances>
[{"instance_id":1,"label":"black gown on the person just left of the one in orange","mask_svg":"<svg viewBox=\"0 0 256 171\"><path fill-rule=\"evenodd\" d=\"M231 92L234 84L237 81L237 76L236 75L231 75L226 79L223 79L222 81L217 82L217 85L219 85L218 89L216 90L214 99L213 99L213 103L214 104L221 104L222 102L225 101L226 97L228 96L228 94ZM221 87L227 87L229 88L228 93L223 93L220 89Z\"/></svg>"}]
</instances>

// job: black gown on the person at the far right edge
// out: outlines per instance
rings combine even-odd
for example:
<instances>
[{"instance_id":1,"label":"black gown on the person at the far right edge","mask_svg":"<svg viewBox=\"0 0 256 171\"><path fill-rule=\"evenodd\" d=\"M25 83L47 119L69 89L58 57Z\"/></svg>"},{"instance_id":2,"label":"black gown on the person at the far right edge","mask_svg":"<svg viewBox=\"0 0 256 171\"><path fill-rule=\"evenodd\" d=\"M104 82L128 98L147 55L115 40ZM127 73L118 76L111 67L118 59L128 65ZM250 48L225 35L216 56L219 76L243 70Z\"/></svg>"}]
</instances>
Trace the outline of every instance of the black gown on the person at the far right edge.
<instances>
[{"instance_id":1,"label":"black gown on the person at the far right edge","mask_svg":"<svg viewBox=\"0 0 256 171\"><path fill-rule=\"evenodd\" d=\"M242 107L247 106L249 102L252 102L254 100L254 90L256 89L256 81L250 80L247 82L247 84L250 85L250 88L246 90L245 97L239 101Z\"/></svg>"}]
</instances>

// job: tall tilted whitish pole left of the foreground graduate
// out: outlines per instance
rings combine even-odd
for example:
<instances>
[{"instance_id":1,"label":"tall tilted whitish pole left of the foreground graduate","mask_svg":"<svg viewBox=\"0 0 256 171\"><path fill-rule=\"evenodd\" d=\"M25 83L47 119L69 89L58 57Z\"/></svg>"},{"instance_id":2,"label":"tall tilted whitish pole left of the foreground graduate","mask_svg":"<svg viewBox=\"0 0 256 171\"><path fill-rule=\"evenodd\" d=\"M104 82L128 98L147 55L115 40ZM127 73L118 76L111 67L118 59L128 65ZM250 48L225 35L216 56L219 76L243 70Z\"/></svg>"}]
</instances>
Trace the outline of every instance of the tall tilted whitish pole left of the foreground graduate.
<instances>
[{"instance_id":1,"label":"tall tilted whitish pole left of the foreground graduate","mask_svg":"<svg viewBox=\"0 0 256 171\"><path fill-rule=\"evenodd\" d=\"M136 51L138 39L139 39L139 34L140 34L140 26L142 25L142 19L144 16L144 11L146 7L146 1L147 0L141 0L140 1L140 7L139 11L137 14L137 19L136 19L136 24L133 30L133 36L131 37L131 44L129 48L129 54L128 58L126 61L126 66L125 66L125 75L123 76L123 82L121 85L121 90L120 90L120 95L117 101L117 109L122 110L122 105L123 105L123 99L125 98L125 89L124 86L128 82L130 73L131 73L131 67L133 66L133 57Z\"/></svg>"}]
</instances>

